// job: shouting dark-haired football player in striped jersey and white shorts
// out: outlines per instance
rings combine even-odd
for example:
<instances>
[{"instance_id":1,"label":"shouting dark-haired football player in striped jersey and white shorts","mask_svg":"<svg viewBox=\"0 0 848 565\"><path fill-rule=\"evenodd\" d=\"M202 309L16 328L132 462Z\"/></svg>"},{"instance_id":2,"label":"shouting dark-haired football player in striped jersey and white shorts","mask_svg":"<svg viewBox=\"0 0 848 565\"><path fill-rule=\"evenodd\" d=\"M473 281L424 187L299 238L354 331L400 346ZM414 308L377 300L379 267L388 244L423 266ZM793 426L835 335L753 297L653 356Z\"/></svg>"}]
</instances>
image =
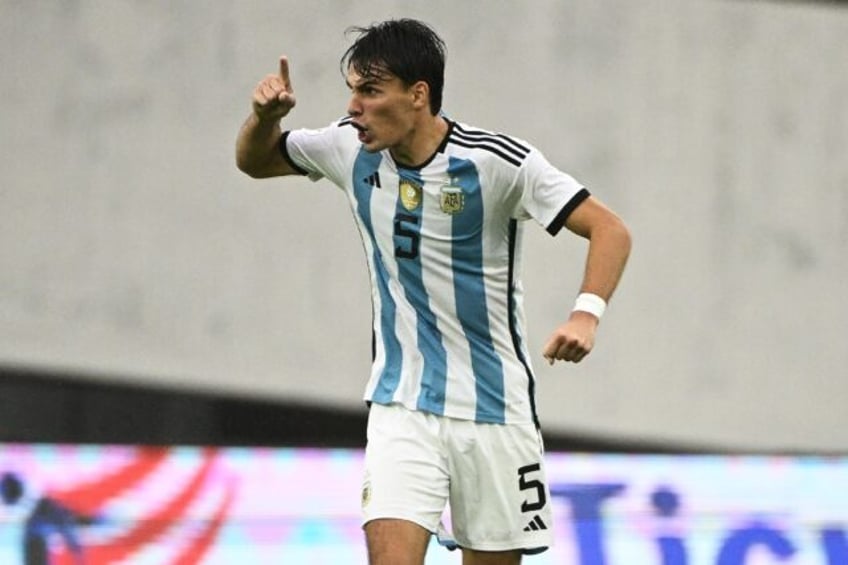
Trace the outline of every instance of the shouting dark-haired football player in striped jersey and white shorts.
<instances>
[{"instance_id":1,"label":"shouting dark-haired football player in striped jersey and white shorts","mask_svg":"<svg viewBox=\"0 0 848 565\"><path fill-rule=\"evenodd\" d=\"M253 92L238 167L327 178L346 193L370 270L374 362L363 484L372 565L421 564L450 504L465 564L551 543L550 496L523 328L522 222L589 239L581 294L543 355L591 350L630 237L528 143L442 115L445 50L415 20L367 28L342 57L347 116L283 133L289 63Z\"/></svg>"}]
</instances>

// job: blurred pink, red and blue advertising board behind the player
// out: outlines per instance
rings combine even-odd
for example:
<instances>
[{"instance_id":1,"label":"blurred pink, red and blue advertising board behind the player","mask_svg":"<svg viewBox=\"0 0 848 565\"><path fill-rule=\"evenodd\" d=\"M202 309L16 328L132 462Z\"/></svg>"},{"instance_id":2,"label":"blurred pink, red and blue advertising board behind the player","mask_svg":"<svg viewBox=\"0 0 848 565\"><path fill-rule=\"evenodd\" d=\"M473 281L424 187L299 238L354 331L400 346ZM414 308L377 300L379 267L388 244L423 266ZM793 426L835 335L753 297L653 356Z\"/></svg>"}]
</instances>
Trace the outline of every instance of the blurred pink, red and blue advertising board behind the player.
<instances>
[{"instance_id":1,"label":"blurred pink, red and blue advertising board behind the player","mask_svg":"<svg viewBox=\"0 0 848 565\"><path fill-rule=\"evenodd\" d=\"M0 444L0 563L366 563L358 450ZM848 458L549 453L532 565L848 564ZM449 524L450 517L446 516ZM435 542L428 564L458 564Z\"/></svg>"}]
</instances>

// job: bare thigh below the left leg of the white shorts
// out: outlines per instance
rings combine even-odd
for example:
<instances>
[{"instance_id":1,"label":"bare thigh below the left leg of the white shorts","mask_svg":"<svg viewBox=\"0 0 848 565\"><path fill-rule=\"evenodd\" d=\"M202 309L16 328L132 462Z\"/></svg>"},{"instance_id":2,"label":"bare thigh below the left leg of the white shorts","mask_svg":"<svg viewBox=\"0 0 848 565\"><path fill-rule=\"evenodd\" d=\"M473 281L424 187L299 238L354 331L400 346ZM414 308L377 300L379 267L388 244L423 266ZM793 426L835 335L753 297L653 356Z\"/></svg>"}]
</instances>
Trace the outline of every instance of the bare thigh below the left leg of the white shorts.
<instances>
[{"instance_id":1,"label":"bare thigh below the left leg of the white shorts","mask_svg":"<svg viewBox=\"0 0 848 565\"><path fill-rule=\"evenodd\" d=\"M369 565L423 565L430 532L408 520L381 518L365 524Z\"/></svg>"}]
</instances>

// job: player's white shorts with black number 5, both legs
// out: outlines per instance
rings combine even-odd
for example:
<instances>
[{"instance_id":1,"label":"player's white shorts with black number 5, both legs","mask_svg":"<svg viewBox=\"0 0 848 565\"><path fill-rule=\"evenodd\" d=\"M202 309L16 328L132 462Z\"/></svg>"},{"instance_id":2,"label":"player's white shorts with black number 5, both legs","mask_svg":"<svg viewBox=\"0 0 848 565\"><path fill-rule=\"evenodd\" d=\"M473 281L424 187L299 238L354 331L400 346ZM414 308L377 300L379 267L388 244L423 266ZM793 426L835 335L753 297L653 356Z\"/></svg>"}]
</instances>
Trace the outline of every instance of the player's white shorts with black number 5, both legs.
<instances>
[{"instance_id":1,"label":"player's white shorts with black number 5, both legs","mask_svg":"<svg viewBox=\"0 0 848 565\"><path fill-rule=\"evenodd\" d=\"M400 518L480 551L544 551L553 541L541 436L532 423L485 424L372 404L364 523Z\"/></svg>"}]
</instances>

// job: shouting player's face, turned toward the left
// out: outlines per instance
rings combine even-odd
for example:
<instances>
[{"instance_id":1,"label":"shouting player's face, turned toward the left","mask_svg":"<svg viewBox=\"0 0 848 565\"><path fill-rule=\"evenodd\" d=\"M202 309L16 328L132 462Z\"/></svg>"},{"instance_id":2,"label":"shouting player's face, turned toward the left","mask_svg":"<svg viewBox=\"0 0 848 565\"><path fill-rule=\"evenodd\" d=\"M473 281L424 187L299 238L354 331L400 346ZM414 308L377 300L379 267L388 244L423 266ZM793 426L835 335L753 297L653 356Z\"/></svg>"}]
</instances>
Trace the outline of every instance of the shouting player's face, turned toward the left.
<instances>
[{"instance_id":1,"label":"shouting player's face, turned toward the left","mask_svg":"<svg viewBox=\"0 0 848 565\"><path fill-rule=\"evenodd\" d=\"M411 143L420 109L420 89L407 87L394 75L347 73L351 97L348 114L366 151L403 148Z\"/></svg>"}]
</instances>

